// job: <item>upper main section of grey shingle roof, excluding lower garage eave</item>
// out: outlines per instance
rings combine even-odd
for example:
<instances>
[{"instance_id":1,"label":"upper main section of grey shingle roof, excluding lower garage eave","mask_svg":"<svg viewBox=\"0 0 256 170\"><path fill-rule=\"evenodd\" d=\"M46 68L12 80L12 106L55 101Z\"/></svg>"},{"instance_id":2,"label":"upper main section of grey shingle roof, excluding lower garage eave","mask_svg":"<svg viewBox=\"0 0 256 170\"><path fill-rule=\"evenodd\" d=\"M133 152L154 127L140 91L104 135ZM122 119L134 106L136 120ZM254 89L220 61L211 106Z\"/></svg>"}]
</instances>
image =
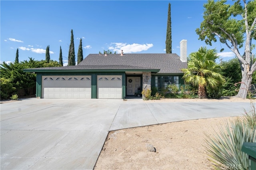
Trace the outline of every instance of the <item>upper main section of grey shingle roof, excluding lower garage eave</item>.
<instances>
[{"instance_id":1,"label":"upper main section of grey shingle roof, excluding lower garage eave","mask_svg":"<svg viewBox=\"0 0 256 170\"><path fill-rule=\"evenodd\" d=\"M78 66L120 66L160 69L158 73L182 73L187 62L181 62L177 54L90 54Z\"/></svg>"}]
</instances>

